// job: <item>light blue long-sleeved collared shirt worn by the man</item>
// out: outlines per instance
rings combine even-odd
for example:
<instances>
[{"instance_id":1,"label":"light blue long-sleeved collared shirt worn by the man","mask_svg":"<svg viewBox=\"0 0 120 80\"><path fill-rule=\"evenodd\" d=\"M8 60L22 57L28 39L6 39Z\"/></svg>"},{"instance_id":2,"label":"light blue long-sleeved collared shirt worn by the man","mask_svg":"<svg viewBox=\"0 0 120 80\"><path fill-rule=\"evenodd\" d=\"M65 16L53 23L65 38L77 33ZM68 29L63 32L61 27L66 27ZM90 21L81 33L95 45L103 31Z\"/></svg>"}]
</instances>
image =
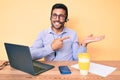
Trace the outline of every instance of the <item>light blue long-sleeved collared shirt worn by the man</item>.
<instances>
[{"instance_id":1,"label":"light blue long-sleeved collared shirt worn by the man","mask_svg":"<svg viewBox=\"0 0 120 80\"><path fill-rule=\"evenodd\" d=\"M63 47L53 51L51 44L54 39L69 36L63 41ZM40 32L36 41L30 47L32 59L45 58L46 61L72 61L77 60L77 54L86 52L86 47L79 46L76 32L64 28L60 34L56 34L51 28Z\"/></svg>"}]
</instances>

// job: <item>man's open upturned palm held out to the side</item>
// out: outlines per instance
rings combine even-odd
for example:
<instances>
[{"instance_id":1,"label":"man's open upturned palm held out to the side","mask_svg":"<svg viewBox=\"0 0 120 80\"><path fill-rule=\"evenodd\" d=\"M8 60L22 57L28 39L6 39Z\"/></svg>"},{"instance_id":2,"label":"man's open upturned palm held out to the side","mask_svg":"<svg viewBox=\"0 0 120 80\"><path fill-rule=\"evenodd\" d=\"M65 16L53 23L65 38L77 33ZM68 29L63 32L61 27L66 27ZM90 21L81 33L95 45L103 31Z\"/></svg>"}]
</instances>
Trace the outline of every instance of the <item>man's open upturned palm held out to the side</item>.
<instances>
[{"instance_id":1,"label":"man's open upturned palm held out to the side","mask_svg":"<svg viewBox=\"0 0 120 80\"><path fill-rule=\"evenodd\" d=\"M94 37L93 34L87 36L83 42L82 42L82 45L83 46L86 46L88 43L91 43L91 42L97 42L97 41L101 41L105 38L105 36L97 36L97 37Z\"/></svg>"}]
</instances>

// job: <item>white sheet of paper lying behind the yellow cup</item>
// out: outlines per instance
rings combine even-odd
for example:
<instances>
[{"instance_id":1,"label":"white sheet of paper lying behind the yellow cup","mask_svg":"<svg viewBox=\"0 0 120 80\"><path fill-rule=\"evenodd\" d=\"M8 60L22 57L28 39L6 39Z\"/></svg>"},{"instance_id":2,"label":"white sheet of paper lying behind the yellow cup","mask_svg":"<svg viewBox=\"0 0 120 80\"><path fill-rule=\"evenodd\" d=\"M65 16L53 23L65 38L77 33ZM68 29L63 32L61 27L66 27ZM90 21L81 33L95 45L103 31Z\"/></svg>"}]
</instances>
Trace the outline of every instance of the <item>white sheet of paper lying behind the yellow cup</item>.
<instances>
[{"instance_id":1,"label":"white sheet of paper lying behind the yellow cup","mask_svg":"<svg viewBox=\"0 0 120 80\"><path fill-rule=\"evenodd\" d=\"M75 69L79 69L78 64L72 65L71 67ZM97 74L102 77L106 77L109 74L111 74L115 69L116 69L115 67L110 67L110 66L91 62L89 72L93 74Z\"/></svg>"}]
</instances>

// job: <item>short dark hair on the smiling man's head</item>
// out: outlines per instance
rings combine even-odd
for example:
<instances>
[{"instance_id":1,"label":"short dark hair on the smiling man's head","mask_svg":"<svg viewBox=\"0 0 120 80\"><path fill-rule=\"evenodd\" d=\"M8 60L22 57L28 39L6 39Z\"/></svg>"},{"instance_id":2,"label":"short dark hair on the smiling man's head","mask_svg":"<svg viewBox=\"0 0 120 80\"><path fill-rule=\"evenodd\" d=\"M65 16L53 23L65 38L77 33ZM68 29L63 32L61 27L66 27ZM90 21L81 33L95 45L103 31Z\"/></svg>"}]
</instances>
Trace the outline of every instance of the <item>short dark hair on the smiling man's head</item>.
<instances>
[{"instance_id":1,"label":"short dark hair on the smiling man's head","mask_svg":"<svg viewBox=\"0 0 120 80\"><path fill-rule=\"evenodd\" d=\"M65 12L66 12L65 21L67 22L67 18L68 18L68 9L67 9L67 7L64 4L62 4L62 3L54 4L52 6L51 15L52 15L52 12L53 12L54 9L63 9L63 10L65 10Z\"/></svg>"}]
</instances>

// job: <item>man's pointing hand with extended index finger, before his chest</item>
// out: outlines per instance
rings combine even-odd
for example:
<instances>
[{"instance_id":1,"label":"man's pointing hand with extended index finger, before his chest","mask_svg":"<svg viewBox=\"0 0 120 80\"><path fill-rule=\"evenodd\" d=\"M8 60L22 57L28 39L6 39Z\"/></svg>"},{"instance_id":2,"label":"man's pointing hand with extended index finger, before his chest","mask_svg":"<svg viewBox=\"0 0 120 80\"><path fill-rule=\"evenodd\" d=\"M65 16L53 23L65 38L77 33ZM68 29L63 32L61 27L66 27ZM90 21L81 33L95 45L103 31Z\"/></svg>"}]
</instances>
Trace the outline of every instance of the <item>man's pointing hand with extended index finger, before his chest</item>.
<instances>
[{"instance_id":1,"label":"man's pointing hand with extended index finger, before his chest","mask_svg":"<svg viewBox=\"0 0 120 80\"><path fill-rule=\"evenodd\" d=\"M55 39L53 42L52 42L52 49L55 51L55 50L58 50L58 49L61 49L62 46L63 46L63 40L66 40L66 39L69 39L68 36L66 37L63 37L63 38L58 38L58 39Z\"/></svg>"}]
</instances>

